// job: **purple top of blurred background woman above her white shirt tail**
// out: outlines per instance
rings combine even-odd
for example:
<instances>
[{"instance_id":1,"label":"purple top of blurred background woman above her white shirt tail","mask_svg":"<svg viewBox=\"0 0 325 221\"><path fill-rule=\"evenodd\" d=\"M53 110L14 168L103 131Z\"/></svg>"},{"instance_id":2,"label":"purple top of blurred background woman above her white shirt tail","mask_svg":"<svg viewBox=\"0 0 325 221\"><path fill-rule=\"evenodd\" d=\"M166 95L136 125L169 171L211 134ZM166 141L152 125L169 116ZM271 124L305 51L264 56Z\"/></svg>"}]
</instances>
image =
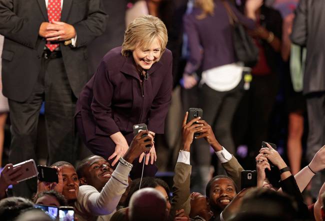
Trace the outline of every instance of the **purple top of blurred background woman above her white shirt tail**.
<instances>
[{"instance_id":1,"label":"purple top of blurred background woman above her white shirt tail","mask_svg":"<svg viewBox=\"0 0 325 221\"><path fill-rule=\"evenodd\" d=\"M229 5L238 20L247 28L253 29L255 22L242 15L231 3ZM184 30L188 36L189 58L185 73L195 72L201 65L202 71L212 67L236 62L232 26L221 0L214 0L214 14L197 19L200 8L194 7L183 17Z\"/></svg>"}]
</instances>

